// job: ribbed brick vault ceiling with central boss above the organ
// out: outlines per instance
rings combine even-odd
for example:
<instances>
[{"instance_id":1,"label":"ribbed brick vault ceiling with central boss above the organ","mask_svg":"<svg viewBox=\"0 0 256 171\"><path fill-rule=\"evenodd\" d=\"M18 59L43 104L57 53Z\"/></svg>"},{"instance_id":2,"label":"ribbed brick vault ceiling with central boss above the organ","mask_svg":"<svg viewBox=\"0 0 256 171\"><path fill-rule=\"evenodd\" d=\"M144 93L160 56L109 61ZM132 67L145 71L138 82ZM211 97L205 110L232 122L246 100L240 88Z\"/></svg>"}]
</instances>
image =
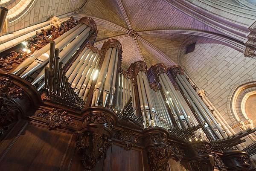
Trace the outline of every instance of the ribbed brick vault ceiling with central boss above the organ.
<instances>
[{"instance_id":1,"label":"ribbed brick vault ceiling with central boss above the organ","mask_svg":"<svg viewBox=\"0 0 256 171\"><path fill-rule=\"evenodd\" d=\"M180 46L192 35L175 30L219 33L165 0L88 0L82 13L96 21L95 46L101 48L111 38L121 42L125 68L138 60L148 67L158 62L177 64Z\"/></svg>"}]
</instances>

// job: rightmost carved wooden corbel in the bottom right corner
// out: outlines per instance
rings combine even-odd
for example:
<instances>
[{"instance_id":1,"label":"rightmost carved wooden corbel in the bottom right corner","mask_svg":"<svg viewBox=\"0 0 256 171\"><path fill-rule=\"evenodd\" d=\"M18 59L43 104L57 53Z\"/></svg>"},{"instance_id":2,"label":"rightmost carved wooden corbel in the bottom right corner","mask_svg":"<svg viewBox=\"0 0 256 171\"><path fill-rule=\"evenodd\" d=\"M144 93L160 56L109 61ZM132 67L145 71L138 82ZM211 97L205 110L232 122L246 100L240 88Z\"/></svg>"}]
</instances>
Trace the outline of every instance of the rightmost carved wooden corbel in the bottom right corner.
<instances>
[{"instance_id":1,"label":"rightmost carved wooden corbel in the bottom right corner","mask_svg":"<svg viewBox=\"0 0 256 171\"><path fill-rule=\"evenodd\" d=\"M244 151L229 150L224 152L222 160L229 171L255 171L249 157Z\"/></svg>"}]
</instances>

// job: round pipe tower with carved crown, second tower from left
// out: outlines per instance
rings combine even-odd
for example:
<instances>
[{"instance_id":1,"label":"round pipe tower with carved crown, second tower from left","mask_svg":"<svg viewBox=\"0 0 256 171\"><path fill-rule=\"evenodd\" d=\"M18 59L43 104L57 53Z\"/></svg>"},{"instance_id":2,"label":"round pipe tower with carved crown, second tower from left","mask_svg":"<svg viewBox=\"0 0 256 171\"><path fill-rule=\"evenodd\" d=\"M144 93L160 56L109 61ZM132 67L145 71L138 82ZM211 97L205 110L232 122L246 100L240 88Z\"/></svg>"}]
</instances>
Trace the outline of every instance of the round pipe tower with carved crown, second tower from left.
<instances>
[{"instance_id":1,"label":"round pipe tower with carved crown, second tower from left","mask_svg":"<svg viewBox=\"0 0 256 171\"><path fill-rule=\"evenodd\" d=\"M113 96L116 91L115 81L120 67L122 46L115 39L103 44L104 60L93 91L92 106L113 106Z\"/></svg>"}]
</instances>

